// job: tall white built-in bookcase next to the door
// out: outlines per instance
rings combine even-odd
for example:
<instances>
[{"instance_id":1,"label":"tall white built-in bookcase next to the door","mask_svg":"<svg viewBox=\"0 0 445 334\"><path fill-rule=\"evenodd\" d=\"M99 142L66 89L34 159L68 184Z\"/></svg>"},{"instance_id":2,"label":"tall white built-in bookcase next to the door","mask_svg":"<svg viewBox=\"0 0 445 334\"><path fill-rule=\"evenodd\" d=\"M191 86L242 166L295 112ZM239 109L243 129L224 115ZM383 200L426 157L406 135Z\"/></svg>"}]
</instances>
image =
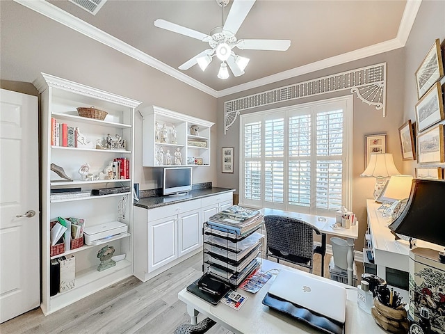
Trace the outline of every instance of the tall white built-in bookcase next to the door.
<instances>
[{"instance_id":1,"label":"tall white built-in bookcase next to the door","mask_svg":"<svg viewBox=\"0 0 445 334\"><path fill-rule=\"evenodd\" d=\"M51 199L51 190L60 188L81 188L82 191L115 186L128 186L133 189L133 152L134 152L134 111L140 102L126 97L107 93L103 90L77 84L44 74L34 81L41 94L41 200L42 200L42 311L45 315L59 310L89 294L97 292L133 273L133 199L131 191L104 196ZM106 111L104 120L85 118L78 115L77 107L90 107ZM51 118L65 122L70 127L79 127L90 145L82 147L63 147L51 145ZM121 136L126 145L119 150L96 148L97 141L104 143L108 134ZM90 172L99 175L117 157L129 160L129 178L125 180L100 179L81 181L79 168L90 165ZM59 177L51 170L51 164L60 166L73 181ZM86 227L112 221L128 225L128 232L119 234L94 245L84 245L65 253L50 256L50 222L58 216L85 219ZM113 246L114 255L125 254L124 260L116 262L115 267L97 271L98 251L103 246ZM50 296L51 259L60 256L75 257L74 288Z\"/></svg>"}]
</instances>

